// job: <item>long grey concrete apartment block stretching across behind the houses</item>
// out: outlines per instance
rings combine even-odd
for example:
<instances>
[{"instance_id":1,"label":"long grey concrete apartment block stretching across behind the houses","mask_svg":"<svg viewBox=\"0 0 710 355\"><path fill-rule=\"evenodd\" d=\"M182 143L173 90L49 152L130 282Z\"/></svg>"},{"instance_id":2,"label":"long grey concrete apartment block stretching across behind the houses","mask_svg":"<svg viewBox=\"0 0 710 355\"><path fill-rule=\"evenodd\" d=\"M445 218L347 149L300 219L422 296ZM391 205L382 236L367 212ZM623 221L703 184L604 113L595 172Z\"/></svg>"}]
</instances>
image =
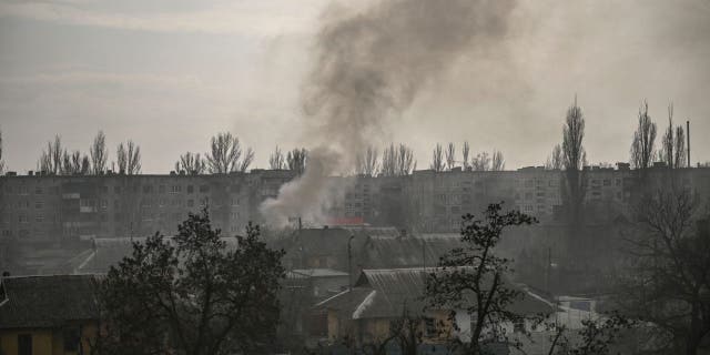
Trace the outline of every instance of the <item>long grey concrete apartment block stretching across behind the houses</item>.
<instances>
[{"instance_id":1,"label":"long grey concrete apartment block stretching across behind the houses","mask_svg":"<svg viewBox=\"0 0 710 355\"><path fill-rule=\"evenodd\" d=\"M585 171L588 205L609 214L630 213L639 172L628 164ZM653 181L674 181L710 196L710 169L651 169ZM260 204L295 178L291 171L253 170L212 175L119 175L0 178L0 236L26 242L145 236L176 232L189 212L209 205L226 233L261 222ZM328 214L334 224L397 226L419 232L456 232L460 215L490 202L552 219L561 206L560 171L416 171L407 176L332 178L343 186ZM307 223L307 221L304 221Z\"/></svg>"}]
</instances>

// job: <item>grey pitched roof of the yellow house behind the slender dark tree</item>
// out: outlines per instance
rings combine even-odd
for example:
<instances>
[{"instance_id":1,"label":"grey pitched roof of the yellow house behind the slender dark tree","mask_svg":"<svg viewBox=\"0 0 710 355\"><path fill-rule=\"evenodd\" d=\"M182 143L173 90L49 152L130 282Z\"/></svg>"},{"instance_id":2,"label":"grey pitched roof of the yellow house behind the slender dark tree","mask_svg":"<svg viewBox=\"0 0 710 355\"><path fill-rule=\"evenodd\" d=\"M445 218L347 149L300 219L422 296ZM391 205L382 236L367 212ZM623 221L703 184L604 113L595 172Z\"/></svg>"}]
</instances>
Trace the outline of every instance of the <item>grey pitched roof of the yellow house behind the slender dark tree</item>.
<instances>
[{"instance_id":1,"label":"grey pitched roof of the yellow house behind the slender dark tree","mask_svg":"<svg viewBox=\"0 0 710 355\"><path fill-rule=\"evenodd\" d=\"M423 300L426 278L435 268L389 268L364 270L352 292L343 292L316 305L337 310L353 318L397 317L405 311L420 314L426 301ZM518 314L551 313L555 307L530 294L527 290L509 284L508 287L523 291L524 296L509 306Z\"/></svg>"}]
</instances>

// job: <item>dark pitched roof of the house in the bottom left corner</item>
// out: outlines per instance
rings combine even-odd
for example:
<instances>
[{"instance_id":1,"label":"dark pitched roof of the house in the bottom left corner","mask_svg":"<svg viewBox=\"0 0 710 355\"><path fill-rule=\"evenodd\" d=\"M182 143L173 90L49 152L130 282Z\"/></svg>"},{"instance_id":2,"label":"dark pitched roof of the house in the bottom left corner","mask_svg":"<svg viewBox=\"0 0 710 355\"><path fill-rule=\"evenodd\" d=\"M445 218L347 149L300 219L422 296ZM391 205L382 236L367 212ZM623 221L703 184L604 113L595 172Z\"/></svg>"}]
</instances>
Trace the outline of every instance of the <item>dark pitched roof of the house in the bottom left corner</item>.
<instances>
[{"instance_id":1,"label":"dark pitched roof of the house in the bottom left corner","mask_svg":"<svg viewBox=\"0 0 710 355\"><path fill-rule=\"evenodd\" d=\"M10 276L1 281L0 328L57 327L99 317L97 275Z\"/></svg>"}]
</instances>

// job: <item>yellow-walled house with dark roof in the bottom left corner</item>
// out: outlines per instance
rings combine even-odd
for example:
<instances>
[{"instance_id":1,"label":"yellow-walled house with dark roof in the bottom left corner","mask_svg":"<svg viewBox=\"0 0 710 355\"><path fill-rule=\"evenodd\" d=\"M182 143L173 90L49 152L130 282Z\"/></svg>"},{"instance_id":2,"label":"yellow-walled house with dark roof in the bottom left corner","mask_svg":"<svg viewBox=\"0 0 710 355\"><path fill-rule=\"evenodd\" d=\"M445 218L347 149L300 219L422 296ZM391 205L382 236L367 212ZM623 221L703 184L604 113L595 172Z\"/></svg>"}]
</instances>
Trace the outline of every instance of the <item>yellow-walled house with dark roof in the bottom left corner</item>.
<instances>
[{"instance_id":1,"label":"yellow-walled house with dark roof in the bottom left corner","mask_svg":"<svg viewBox=\"0 0 710 355\"><path fill-rule=\"evenodd\" d=\"M93 354L97 285L95 275L2 277L0 354Z\"/></svg>"}]
</instances>

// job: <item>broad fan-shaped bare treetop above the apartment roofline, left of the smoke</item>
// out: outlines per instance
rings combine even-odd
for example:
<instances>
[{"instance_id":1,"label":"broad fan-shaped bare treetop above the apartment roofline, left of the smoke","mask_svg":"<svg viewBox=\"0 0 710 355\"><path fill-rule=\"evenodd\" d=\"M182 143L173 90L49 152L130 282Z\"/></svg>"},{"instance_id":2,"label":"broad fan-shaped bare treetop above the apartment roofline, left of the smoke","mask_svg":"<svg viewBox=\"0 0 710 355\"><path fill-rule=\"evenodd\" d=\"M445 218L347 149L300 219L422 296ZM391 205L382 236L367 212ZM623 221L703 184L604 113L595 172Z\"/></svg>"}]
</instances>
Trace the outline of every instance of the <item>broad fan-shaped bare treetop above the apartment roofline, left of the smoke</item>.
<instances>
[{"instance_id":1,"label":"broad fan-shaped bare treetop above the apartment roofline, left of the smoke","mask_svg":"<svg viewBox=\"0 0 710 355\"><path fill-rule=\"evenodd\" d=\"M239 138L230 132L212 136L211 151L206 153L207 171L213 174L225 174L235 171L244 172L254 160L254 151L248 148L242 151ZM244 158L242 159L242 154Z\"/></svg>"}]
</instances>

